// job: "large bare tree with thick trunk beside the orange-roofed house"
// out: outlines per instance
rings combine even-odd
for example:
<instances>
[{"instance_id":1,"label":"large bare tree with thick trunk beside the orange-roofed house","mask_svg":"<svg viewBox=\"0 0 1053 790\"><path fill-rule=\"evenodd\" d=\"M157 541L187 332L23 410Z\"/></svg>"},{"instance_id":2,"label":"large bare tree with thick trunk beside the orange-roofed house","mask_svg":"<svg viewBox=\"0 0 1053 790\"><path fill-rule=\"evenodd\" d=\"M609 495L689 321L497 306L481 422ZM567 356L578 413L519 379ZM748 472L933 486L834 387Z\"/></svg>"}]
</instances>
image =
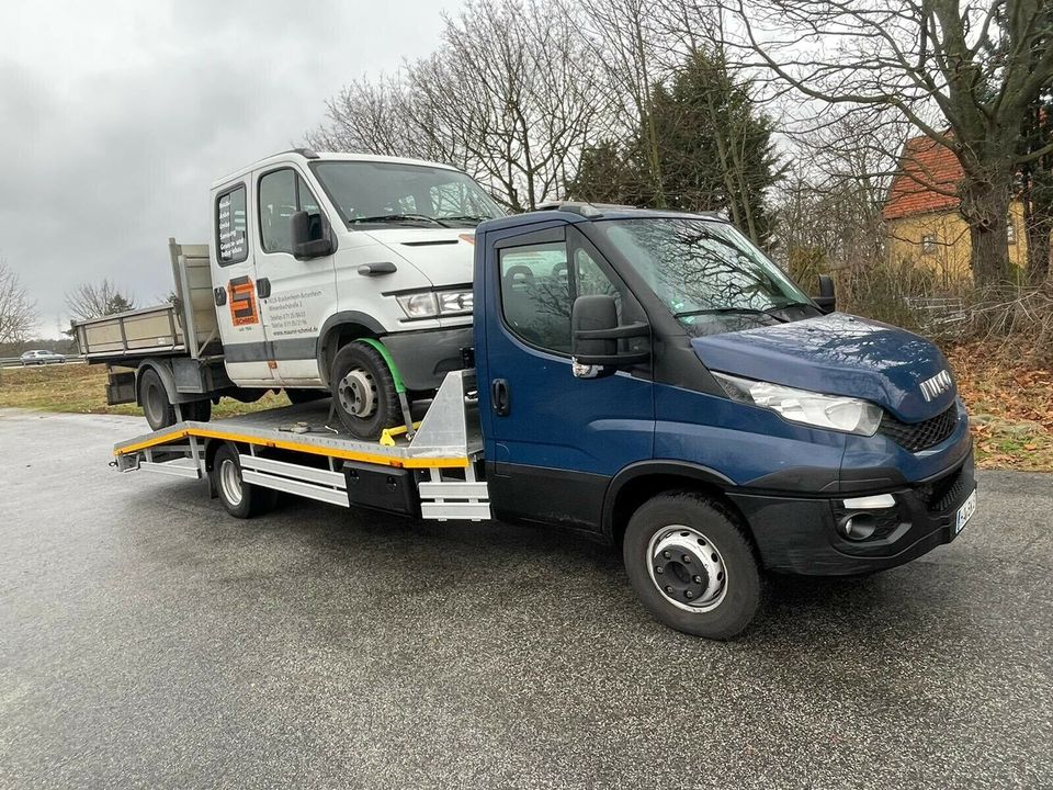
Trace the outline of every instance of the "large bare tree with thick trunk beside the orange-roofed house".
<instances>
[{"instance_id":1,"label":"large bare tree with thick trunk beside the orange-roofed house","mask_svg":"<svg viewBox=\"0 0 1053 790\"><path fill-rule=\"evenodd\" d=\"M828 104L901 116L964 171L961 213L980 284L1009 279L1012 180L1024 110L1053 79L1044 0L726 0L737 42L780 80ZM1040 151L1044 153L1044 151Z\"/></svg>"}]
</instances>

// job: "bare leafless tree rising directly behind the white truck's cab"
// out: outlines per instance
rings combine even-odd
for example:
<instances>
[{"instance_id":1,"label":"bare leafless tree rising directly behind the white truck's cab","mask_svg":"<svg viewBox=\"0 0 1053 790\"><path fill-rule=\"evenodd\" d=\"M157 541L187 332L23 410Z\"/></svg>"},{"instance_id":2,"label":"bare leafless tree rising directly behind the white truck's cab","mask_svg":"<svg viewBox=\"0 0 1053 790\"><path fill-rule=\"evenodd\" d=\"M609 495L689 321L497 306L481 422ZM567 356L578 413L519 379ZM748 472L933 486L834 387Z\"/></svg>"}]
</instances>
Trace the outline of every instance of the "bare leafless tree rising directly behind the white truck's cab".
<instances>
[{"instance_id":1,"label":"bare leafless tree rising directly behind the white truck's cab","mask_svg":"<svg viewBox=\"0 0 1053 790\"><path fill-rule=\"evenodd\" d=\"M513 211L555 199L595 136L603 92L567 0L480 0L442 46L394 77L352 82L317 145L455 165Z\"/></svg>"}]
</instances>

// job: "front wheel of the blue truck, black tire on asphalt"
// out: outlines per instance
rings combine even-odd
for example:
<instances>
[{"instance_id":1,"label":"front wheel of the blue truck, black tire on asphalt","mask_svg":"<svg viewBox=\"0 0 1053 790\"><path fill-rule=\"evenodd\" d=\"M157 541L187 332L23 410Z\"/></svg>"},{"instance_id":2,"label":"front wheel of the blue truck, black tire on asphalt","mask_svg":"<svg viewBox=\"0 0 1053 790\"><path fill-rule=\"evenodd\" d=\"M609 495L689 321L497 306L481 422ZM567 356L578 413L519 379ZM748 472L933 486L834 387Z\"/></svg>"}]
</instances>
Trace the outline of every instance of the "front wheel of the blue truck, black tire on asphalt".
<instances>
[{"instance_id":1,"label":"front wheel of the blue truck, black tire on asphalt","mask_svg":"<svg viewBox=\"0 0 1053 790\"><path fill-rule=\"evenodd\" d=\"M641 602L677 631L732 639L760 606L752 546L718 500L692 492L654 497L630 519L622 553Z\"/></svg>"}]
</instances>

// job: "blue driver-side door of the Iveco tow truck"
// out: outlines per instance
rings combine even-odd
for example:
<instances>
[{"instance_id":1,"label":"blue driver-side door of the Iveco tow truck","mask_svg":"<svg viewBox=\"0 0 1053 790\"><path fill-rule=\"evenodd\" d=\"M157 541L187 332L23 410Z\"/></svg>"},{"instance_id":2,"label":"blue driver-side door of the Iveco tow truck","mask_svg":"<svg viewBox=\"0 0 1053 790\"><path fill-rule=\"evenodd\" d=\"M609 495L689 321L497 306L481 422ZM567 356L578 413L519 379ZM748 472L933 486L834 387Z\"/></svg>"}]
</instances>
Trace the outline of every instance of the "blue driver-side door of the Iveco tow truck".
<instances>
[{"instance_id":1,"label":"blue driver-side door of the Iveco tow truck","mask_svg":"<svg viewBox=\"0 0 1053 790\"><path fill-rule=\"evenodd\" d=\"M653 384L648 371L576 379L570 309L579 295L609 293L621 323L646 316L575 228L511 232L496 244L488 234L477 359L491 507L498 518L599 530L610 478L653 455Z\"/></svg>"}]
</instances>

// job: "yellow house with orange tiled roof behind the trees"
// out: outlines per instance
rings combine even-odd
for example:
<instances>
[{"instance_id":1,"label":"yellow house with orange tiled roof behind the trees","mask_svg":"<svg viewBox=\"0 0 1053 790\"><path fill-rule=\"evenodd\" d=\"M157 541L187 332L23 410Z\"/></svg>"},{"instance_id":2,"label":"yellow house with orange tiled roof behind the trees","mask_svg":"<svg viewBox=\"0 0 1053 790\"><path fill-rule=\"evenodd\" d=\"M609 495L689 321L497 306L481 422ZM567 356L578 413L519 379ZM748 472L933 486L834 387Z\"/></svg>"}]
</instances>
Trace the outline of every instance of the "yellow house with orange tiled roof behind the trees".
<instances>
[{"instance_id":1,"label":"yellow house with orange tiled roof behind the trees","mask_svg":"<svg viewBox=\"0 0 1053 790\"><path fill-rule=\"evenodd\" d=\"M912 137L882 208L885 249L891 263L929 269L950 285L970 276L969 226L959 213L962 166L948 148L929 137ZM1023 204L1015 200L1008 217L1009 261L1027 266Z\"/></svg>"}]
</instances>

